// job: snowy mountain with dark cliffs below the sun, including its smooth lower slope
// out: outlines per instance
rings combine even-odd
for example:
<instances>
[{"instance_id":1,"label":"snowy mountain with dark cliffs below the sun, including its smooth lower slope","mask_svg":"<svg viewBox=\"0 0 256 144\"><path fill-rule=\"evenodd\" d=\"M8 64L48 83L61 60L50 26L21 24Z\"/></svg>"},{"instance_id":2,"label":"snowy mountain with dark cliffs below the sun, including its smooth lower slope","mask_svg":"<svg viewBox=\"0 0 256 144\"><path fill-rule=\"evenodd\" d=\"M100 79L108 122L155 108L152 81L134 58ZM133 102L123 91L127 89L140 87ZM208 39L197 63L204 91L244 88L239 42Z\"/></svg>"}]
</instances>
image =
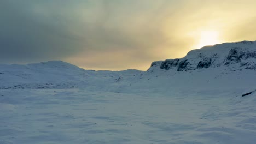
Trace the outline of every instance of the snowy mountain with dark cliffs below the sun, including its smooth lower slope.
<instances>
[{"instance_id":1,"label":"snowy mountain with dark cliffs below the sun, including its smooth lower slope","mask_svg":"<svg viewBox=\"0 0 256 144\"><path fill-rule=\"evenodd\" d=\"M128 91L216 94L255 89L256 41L241 41L191 50L183 58L153 62ZM143 89L143 90L142 90ZM150 90L146 90L150 89Z\"/></svg>"}]
</instances>

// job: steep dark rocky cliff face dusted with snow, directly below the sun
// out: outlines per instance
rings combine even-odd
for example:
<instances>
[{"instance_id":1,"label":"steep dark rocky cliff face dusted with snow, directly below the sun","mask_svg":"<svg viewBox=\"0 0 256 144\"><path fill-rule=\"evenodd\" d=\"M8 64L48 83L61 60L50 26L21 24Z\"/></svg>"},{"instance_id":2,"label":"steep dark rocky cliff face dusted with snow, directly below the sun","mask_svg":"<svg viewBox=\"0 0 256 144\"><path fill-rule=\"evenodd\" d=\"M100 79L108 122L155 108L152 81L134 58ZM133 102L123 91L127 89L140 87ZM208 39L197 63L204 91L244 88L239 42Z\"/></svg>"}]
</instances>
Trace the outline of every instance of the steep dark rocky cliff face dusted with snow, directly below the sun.
<instances>
[{"instance_id":1,"label":"steep dark rocky cliff face dusted with snow, directly below the sun","mask_svg":"<svg viewBox=\"0 0 256 144\"><path fill-rule=\"evenodd\" d=\"M256 41L205 46L188 52L183 58L153 62L149 70L189 71L214 67L256 70Z\"/></svg>"}]
</instances>

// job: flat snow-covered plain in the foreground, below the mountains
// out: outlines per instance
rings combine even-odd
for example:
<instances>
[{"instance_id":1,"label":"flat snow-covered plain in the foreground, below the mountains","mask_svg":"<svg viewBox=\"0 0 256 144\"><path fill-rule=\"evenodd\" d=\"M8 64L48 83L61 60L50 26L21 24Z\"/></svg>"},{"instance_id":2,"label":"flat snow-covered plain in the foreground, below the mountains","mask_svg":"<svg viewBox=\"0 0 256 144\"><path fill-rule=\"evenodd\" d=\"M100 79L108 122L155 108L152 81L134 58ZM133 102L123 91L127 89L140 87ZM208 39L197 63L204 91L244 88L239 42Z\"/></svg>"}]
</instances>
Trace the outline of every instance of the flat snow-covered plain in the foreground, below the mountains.
<instances>
[{"instance_id":1,"label":"flat snow-covered plain in the foreground, below the mountains","mask_svg":"<svg viewBox=\"0 0 256 144\"><path fill-rule=\"evenodd\" d=\"M254 143L256 94L2 90L0 143Z\"/></svg>"}]
</instances>

